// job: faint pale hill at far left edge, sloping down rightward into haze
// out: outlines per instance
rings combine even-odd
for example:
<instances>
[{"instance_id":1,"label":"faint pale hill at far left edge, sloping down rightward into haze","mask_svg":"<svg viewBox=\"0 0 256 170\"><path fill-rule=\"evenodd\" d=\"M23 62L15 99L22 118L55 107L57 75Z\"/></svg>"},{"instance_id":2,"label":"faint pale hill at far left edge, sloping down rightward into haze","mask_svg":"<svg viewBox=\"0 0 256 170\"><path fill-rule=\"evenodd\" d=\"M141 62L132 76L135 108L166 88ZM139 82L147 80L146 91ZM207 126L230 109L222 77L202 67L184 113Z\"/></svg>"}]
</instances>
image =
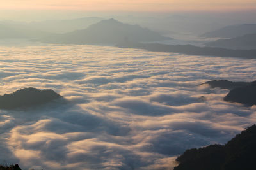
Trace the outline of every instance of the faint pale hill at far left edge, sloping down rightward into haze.
<instances>
[{"instance_id":1,"label":"faint pale hill at far left edge, sloping down rightward into haze","mask_svg":"<svg viewBox=\"0 0 256 170\"><path fill-rule=\"evenodd\" d=\"M20 27L10 27L0 24L0 38L42 38L50 33L38 31L36 29L24 29Z\"/></svg>"}]
</instances>

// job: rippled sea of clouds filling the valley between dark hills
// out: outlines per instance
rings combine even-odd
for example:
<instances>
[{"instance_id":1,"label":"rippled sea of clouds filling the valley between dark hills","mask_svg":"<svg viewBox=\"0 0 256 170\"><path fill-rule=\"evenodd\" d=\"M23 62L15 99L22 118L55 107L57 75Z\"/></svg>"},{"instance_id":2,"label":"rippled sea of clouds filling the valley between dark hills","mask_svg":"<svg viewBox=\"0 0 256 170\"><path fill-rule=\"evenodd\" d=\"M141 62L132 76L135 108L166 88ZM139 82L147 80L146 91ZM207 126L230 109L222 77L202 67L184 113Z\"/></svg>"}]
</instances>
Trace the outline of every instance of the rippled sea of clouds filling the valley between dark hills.
<instances>
[{"instance_id":1,"label":"rippled sea of clouds filling the valley between dark hills","mask_svg":"<svg viewBox=\"0 0 256 170\"><path fill-rule=\"evenodd\" d=\"M67 101L0 110L0 163L23 169L172 169L188 148L256 122L209 80L253 81L255 59L88 45L0 46L0 94L53 89ZM204 97L201 97L204 96Z\"/></svg>"}]
</instances>

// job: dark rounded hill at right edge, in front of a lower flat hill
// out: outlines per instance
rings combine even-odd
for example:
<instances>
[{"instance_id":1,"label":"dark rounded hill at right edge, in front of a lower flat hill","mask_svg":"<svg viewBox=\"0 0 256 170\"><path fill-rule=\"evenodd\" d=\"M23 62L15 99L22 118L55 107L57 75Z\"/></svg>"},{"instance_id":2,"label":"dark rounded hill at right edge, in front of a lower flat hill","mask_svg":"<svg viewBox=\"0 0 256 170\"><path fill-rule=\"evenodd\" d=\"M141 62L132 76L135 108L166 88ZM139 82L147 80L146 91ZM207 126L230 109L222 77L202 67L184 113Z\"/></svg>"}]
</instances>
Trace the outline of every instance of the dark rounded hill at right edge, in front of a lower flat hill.
<instances>
[{"instance_id":1,"label":"dark rounded hill at right edge, in front of a lower flat hill","mask_svg":"<svg viewBox=\"0 0 256 170\"><path fill-rule=\"evenodd\" d=\"M256 104L256 81L249 85L244 85L231 90L227 96L224 97L224 100L250 106Z\"/></svg>"}]
</instances>

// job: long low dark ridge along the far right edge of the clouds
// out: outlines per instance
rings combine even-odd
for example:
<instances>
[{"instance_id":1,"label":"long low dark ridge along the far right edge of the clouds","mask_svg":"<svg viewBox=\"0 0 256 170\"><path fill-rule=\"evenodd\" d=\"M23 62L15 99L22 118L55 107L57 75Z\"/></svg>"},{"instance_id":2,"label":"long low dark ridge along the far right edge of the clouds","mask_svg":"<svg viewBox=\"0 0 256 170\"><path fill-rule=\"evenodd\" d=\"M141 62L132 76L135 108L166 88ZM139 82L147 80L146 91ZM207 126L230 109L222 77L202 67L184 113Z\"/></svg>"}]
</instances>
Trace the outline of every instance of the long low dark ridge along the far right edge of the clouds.
<instances>
[{"instance_id":1,"label":"long low dark ridge along the far right edge of the clouds","mask_svg":"<svg viewBox=\"0 0 256 170\"><path fill-rule=\"evenodd\" d=\"M225 48L198 47L193 45L164 45L159 43L136 43L124 41L116 45L120 48L140 48L152 52L173 52L187 55L206 55L220 57L256 58L256 50L230 50Z\"/></svg>"}]
</instances>

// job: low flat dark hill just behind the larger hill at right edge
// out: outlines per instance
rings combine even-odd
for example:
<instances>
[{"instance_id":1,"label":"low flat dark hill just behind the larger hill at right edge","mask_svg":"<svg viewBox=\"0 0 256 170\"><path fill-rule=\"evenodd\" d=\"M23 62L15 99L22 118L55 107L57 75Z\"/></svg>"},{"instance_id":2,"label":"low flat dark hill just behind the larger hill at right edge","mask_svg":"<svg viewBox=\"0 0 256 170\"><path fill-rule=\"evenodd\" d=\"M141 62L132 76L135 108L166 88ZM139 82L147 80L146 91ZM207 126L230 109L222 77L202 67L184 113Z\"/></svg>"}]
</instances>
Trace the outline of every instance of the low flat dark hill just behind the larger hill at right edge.
<instances>
[{"instance_id":1,"label":"low flat dark hill just behind the larger hill at right edge","mask_svg":"<svg viewBox=\"0 0 256 170\"><path fill-rule=\"evenodd\" d=\"M212 81L207 81L202 84L208 84L212 88L219 87L221 89L230 89L231 90L231 89L235 89L237 87L242 87L244 85L249 85L251 83L255 83L255 81L253 81L253 82L232 82L232 81L228 81L228 80L212 80Z\"/></svg>"}]
</instances>

